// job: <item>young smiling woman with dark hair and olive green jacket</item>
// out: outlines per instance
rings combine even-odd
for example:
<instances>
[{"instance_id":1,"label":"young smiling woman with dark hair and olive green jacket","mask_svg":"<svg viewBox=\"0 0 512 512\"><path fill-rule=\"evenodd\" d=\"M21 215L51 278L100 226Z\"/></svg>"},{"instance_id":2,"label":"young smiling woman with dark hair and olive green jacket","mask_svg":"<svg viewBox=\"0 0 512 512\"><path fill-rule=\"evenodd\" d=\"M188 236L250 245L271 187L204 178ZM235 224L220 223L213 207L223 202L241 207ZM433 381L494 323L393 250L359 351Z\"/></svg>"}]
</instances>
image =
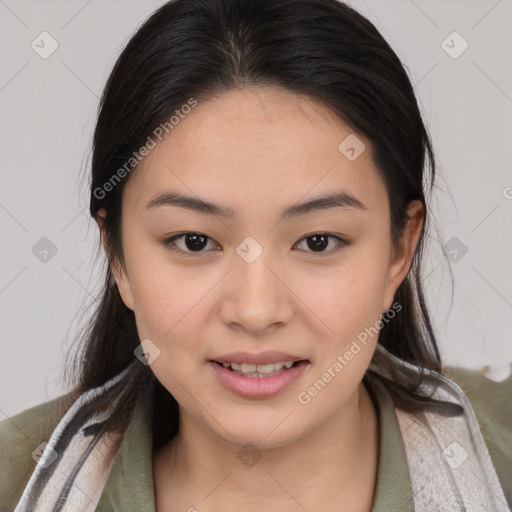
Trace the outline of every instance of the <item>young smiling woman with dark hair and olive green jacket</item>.
<instances>
[{"instance_id":1,"label":"young smiling woman with dark hair and olive green jacket","mask_svg":"<svg viewBox=\"0 0 512 512\"><path fill-rule=\"evenodd\" d=\"M508 510L512 378L448 376L422 291L434 177L346 4L158 9L101 99L75 387L0 425L1 510Z\"/></svg>"}]
</instances>

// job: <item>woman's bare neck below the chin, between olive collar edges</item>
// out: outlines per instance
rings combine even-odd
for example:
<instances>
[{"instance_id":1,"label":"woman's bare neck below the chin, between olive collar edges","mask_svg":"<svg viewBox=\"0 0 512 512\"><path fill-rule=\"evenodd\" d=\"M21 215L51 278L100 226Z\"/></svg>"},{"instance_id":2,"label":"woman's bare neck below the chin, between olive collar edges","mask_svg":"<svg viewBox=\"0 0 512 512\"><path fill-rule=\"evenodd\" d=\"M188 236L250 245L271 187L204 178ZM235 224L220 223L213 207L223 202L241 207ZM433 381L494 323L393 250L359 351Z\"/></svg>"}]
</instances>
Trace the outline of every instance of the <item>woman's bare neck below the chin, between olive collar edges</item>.
<instances>
[{"instance_id":1,"label":"woman's bare neck below the chin, between olive collar edges","mask_svg":"<svg viewBox=\"0 0 512 512\"><path fill-rule=\"evenodd\" d=\"M363 383L320 429L278 448L241 450L180 414L179 433L154 456L157 511L174 510L169 504L250 511L272 503L280 511L368 512L378 439L377 413Z\"/></svg>"}]
</instances>

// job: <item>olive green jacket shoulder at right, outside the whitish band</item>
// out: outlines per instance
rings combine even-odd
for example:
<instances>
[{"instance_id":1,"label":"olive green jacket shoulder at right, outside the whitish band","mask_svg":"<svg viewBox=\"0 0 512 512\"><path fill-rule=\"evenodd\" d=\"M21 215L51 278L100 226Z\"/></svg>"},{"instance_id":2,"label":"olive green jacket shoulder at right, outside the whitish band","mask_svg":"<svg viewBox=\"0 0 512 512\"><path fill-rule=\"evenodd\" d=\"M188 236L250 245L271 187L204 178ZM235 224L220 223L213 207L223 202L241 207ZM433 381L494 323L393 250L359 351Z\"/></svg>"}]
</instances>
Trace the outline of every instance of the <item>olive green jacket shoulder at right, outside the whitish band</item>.
<instances>
[{"instance_id":1,"label":"olive green jacket shoulder at right, outside the whitish band","mask_svg":"<svg viewBox=\"0 0 512 512\"><path fill-rule=\"evenodd\" d=\"M512 374L507 372L506 366L501 371L489 366L478 370L446 366L443 373L468 397L512 508Z\"/></svg>"}]
</instances>

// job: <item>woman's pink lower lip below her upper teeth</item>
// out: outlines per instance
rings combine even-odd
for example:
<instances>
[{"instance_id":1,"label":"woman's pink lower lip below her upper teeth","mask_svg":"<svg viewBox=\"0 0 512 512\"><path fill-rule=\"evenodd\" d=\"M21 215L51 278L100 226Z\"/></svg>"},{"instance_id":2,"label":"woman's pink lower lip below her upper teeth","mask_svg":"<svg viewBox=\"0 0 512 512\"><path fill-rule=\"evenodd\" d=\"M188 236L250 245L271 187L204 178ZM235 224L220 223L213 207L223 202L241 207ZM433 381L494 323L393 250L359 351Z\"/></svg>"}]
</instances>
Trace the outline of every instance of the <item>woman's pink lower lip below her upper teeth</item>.
<instances>
[{"instance_id":1,"label":"woman's pink lower lip below her upper teeth","mask_svg":"<svg viewBox=\"0 0 512 512\"><path fill-rule=\"evenodd\" d=\"M244 377L214 361L209 361L208 364L213 366L222 384L233 393L249 398L267 398L276 395L297 380L309 362L300 361L295 366L272 377Z\"/></svg>"}]
</instances>

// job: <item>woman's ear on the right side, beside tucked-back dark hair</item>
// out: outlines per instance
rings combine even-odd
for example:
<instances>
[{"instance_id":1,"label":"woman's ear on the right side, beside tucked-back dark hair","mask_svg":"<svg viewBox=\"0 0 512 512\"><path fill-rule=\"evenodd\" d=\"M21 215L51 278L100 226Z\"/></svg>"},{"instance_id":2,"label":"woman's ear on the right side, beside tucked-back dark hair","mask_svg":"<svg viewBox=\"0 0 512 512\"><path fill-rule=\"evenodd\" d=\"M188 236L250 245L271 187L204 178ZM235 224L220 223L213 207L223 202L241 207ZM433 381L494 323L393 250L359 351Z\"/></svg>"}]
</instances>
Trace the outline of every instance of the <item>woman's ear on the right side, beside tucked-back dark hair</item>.
<instances>
[{"instance_id":1,"label":"woman's ear on the right side, beside tucked-back dark hair","mask_svg":"<svg viewBox=\"0 0 512 512\"><path fill-rule=\"evenodd\" d=\"M392 250L387 272L388 279L383 295L383 312L392 306L396 290L409 272L416 244L421 234L424 216L425 210L421 201L418 199L411 201L407 207L407 224L403 235Z\"/></svg>"}]
</instances>

